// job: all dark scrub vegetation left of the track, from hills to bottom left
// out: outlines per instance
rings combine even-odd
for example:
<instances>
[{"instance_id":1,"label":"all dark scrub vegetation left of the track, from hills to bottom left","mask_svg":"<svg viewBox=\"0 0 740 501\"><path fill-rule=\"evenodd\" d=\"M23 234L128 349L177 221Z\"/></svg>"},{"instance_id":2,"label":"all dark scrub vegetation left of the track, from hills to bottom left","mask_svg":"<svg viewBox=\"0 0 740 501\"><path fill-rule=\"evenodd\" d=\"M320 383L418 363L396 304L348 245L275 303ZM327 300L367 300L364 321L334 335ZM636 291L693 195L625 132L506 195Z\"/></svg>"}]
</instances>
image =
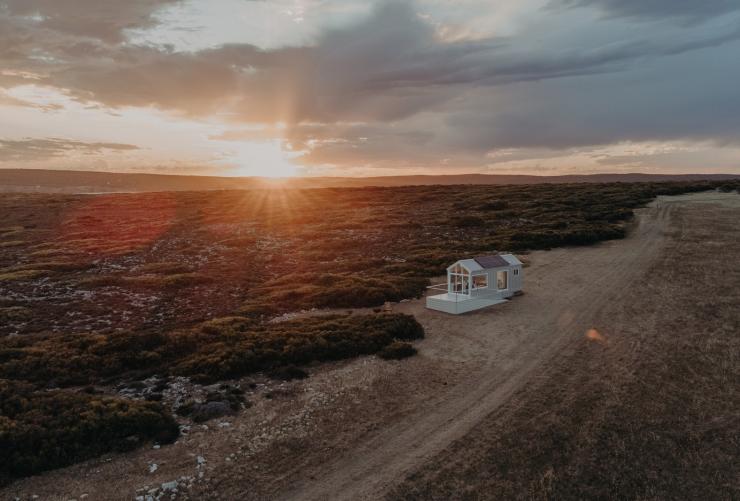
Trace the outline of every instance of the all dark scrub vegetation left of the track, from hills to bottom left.
<instances>
[{"instance_id":1,"label":"all dark scrub vegetation left of the track, from hills to bottom left","mask_svg":"<svg viewBox=\"0 0 740 501\"><path fill-rule=\"evenodd\" d=\"M90 385L403 358L409 316L276 320L417 297L461 255L621 238L655 196L717 188L737 183L5 195L0 481L177 435L170 409Z\"/></svg>"}]
</instances>

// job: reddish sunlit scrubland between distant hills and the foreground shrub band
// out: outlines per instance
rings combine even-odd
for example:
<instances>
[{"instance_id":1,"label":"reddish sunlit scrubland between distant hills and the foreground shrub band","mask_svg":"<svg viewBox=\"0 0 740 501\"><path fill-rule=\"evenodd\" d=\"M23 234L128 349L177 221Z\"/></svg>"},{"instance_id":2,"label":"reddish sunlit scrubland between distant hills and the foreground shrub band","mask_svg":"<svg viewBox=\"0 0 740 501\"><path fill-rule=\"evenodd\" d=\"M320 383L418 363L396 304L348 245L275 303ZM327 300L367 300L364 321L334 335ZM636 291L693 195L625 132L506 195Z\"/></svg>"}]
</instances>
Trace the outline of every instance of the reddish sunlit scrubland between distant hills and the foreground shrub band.
<instances>
[{"instance_id":1,"label":"reddish sunlit scrubland between distant hills and the foreground shrub band","mask_svg":"<svg viewBox=\"0 0 740 501\"><path fill-rule=\"evenodd\" d=\"M620 238L656 194L728 183L6 195L0 335L377 306L459 255Z\"/></svg>"}]
</instances>

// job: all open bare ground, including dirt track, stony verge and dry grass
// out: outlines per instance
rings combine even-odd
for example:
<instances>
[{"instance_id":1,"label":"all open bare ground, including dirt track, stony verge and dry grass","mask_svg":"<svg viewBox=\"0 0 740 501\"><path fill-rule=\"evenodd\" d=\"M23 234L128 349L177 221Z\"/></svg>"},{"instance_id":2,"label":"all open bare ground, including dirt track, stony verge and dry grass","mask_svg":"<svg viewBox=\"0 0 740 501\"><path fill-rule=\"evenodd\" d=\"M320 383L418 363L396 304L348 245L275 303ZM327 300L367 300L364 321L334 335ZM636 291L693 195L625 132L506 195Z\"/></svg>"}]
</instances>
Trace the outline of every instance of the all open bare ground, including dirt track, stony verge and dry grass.
<instances>
[{"instance_id":1,"label":"all open bare ground, including dirt track, stony verge and dry grass","mask_svg":"<svg viewBox=\"0 0 740 501\"><path fill-rule=\"evenodd\" d=\"M0 496L736 497L740 198L636 212L625 239L525 256L508 304L453 317L395 303L425 329L416 357L244 377L244 412Z\"/></svg>"}]
</instances>

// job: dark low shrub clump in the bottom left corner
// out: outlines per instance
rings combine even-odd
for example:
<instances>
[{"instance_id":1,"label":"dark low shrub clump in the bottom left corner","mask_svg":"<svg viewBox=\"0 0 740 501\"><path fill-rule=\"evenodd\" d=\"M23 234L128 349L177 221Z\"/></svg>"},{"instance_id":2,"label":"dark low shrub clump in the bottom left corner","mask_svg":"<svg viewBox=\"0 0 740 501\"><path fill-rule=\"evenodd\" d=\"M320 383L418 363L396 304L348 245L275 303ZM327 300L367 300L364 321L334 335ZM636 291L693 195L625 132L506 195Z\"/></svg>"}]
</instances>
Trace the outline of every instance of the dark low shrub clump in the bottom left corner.
<instances>
[{"instance_id":1,"label":"dark low shrub clump in the bottom left corner","mask_svg":"<svg viewBox=\"0 0 740 501\"><path fill-rule=\"evenodd\" d=\"M178 435L177 423L156 403L37 391L0 379L0 484Z\"/></svg>"}]
</instances>

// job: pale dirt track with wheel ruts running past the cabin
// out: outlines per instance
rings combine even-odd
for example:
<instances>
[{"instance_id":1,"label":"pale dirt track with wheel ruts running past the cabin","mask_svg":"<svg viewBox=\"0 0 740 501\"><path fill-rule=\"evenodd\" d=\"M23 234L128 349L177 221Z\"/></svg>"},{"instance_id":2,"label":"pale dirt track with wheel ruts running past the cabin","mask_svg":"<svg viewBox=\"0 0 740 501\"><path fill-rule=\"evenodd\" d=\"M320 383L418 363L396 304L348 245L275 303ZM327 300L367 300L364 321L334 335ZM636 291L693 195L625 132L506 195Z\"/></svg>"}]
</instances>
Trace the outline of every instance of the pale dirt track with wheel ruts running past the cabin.
<instances>
[{"instance_id":1,"label":"pale dirt track with wheel ruts running past the cabin","mask_svg":"<svg viewBox=\"0 0 740 501\"><path fill-rule=\"evenodd\" d=\"M426 310L418 301L406 305L402 309L427 329L424 356L464 364L464 374L446 391L431 392L415 413L322 465L326 473L315 481L299 482L280 498L383 497L414 467L506 402L570 341L582 338L600 309L639 294L647 269L664 252L673 207L736 198L659 199L640 211L626 240L537 252L525 273L526 294L499 308L452 317Z\"/></svg>"}]
</instances>

